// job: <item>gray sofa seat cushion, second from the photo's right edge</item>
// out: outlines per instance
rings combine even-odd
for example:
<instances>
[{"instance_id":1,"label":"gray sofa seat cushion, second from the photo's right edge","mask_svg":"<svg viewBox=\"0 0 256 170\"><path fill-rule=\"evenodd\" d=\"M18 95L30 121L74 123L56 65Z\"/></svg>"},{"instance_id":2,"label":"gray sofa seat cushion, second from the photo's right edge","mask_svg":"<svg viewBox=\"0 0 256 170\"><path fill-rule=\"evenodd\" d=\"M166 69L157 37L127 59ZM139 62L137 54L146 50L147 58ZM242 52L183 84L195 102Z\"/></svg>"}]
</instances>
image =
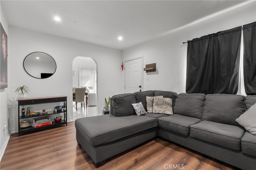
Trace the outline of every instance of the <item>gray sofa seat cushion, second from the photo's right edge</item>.
<instances>
[{"instance_id":1,"label":"gray sofa seat cushion, second from the photo's right edge","mask_svg":"<svg viewBox=\"0 0 256 170\"><path fill-rule=\"evenodd\" d=\"M235 150L241 150L243 134L242 127L212 121L201 121L190 126L191 137Z\"/></svg>"}]
</instances>

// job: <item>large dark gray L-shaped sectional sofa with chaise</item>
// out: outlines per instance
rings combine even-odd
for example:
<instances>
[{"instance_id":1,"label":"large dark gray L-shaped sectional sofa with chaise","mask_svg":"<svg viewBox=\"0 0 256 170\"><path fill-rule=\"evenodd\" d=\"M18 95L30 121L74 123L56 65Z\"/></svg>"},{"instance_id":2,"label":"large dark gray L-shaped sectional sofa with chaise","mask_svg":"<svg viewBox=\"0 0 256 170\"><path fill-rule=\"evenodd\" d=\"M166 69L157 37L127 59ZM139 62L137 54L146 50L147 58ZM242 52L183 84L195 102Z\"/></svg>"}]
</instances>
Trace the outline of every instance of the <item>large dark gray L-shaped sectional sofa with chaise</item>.
<instances>
[{"instance_id":1,"label":"large dark gray L-shaped sectional sofa with chaise","mask_svg":"<svg viewBox=\"0 0 256 170\"><path fill-rule=\"evenodd\" d=\"M132 104L146 96L172 98L173 115L137 116ZM155 137L167 139L232 166L256 167L256 136L236 119L256 103L256 96L176 94L160 90L119 94L109 115L76 119L76 139L96 167L106 159ZM255 120L256 121L256 120Z\"/></svg>"}]
</instances>

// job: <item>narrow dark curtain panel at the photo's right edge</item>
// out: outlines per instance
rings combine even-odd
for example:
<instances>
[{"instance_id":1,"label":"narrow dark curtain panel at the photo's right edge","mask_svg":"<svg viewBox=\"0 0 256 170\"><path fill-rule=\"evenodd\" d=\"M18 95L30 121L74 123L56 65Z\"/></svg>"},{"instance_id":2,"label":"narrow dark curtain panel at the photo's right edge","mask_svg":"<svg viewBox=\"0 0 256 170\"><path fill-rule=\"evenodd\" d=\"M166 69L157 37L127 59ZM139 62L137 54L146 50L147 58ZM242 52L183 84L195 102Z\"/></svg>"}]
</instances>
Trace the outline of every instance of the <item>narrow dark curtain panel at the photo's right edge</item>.
<instances>
[{"instance_id":1,"label":"narrow dark curtain panel at the photo's right edge","mask_svg":"<svg viewBox=\"0 0 256 170\"><path fill-rule=\"evenodd\" d=\"M244 87L247 95L256 95L256 22L243 25Z\"/></svg>"}]
</instances>

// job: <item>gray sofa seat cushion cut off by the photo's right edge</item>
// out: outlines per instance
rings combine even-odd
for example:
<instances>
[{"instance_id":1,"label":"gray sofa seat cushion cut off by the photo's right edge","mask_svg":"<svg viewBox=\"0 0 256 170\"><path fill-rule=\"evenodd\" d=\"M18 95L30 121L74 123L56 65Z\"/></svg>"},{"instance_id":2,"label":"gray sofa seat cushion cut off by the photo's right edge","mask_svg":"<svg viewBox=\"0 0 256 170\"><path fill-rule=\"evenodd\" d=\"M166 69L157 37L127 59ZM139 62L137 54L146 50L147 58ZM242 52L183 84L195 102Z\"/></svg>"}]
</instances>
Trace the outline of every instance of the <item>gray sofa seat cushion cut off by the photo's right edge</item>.
<instances>
[{"instance_id":1,"label":"gray sofa seat cushion cut off by the photo's right edge","mask_svg":"<svg viewBox=\"0 0 256 170\"><path fill-rule=\"evenodd\" d=\"M241 139L242 152L256 156L256 136L246 131Z\"/></svg>"}]
</instances>

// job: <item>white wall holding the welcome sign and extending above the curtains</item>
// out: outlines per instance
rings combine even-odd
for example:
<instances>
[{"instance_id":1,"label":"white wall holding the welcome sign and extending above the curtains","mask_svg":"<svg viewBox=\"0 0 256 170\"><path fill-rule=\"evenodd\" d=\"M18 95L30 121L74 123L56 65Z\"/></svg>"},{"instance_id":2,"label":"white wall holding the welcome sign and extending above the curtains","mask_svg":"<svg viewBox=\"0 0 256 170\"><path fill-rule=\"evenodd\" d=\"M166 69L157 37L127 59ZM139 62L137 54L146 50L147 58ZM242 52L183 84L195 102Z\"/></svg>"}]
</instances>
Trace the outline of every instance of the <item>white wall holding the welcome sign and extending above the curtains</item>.
<instances>
[{"instance_id":1,"label":"white wall holding the welcome sign and extending above the curtains","mask_svg":"<svg viewBox=\"0 0 256 170\"><path fill-rule=\"evenodd\" d=\"M186 90L187 40L256 21L256 2L195 23L162 37L122 51L123 61L143 56L146 64L156 63L157 72L144 71L143 90ZM124 74L124 73L123 73ZM146 80L149 76L149 80Z\"/></svg>"}]
</instances>

